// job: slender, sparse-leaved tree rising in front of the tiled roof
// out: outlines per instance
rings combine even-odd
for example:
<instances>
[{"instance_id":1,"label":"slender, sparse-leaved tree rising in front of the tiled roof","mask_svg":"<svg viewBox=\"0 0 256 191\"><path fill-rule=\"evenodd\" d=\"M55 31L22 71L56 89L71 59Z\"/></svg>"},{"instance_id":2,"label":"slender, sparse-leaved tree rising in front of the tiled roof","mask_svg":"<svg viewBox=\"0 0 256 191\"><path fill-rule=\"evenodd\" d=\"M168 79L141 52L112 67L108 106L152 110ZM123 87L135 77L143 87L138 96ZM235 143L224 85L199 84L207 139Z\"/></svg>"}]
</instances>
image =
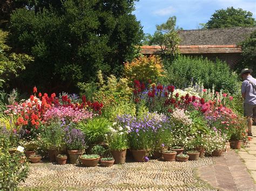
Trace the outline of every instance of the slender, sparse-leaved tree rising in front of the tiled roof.
<instances>
[{"instance_id":1,"label":"slender, sparse-leaved tree rising in front of the tiled roof","mask_svg":"<svg viewBox=\"0 0 256 191\"><path fill-rule=\"evenodd\" d=\"M165 58L173 60L179 53L178 44L181 39L178 36L177 30L182 30L182 28L176 27L176 17L170 17L166 23L157 25L157 31L151 36L147 34L144 41L148 42L149 45L159 45Z\"/></svg>"}]
</instances>

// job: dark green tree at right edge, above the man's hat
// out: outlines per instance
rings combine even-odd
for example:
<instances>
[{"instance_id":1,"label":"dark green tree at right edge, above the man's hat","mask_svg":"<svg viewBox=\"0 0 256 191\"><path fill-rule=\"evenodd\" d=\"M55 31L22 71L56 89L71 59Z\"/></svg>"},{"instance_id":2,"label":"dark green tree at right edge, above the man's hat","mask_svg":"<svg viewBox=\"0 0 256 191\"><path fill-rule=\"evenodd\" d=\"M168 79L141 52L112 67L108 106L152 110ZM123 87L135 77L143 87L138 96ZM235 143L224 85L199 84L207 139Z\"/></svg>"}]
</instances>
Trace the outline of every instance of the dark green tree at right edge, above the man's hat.
<instances>
[{"instance_id":1,"label":"dark green tree at right edge, above the man's hat","mask_svg":"<svg viewBox=\"0 0 256 191\"><path fill-rule=\"evenodd\" d=\"M238 63L239 70L251 68L256 71L256 31L252 32L249 38L241 43L242 58Z\"/></svg>"}]
</instances>

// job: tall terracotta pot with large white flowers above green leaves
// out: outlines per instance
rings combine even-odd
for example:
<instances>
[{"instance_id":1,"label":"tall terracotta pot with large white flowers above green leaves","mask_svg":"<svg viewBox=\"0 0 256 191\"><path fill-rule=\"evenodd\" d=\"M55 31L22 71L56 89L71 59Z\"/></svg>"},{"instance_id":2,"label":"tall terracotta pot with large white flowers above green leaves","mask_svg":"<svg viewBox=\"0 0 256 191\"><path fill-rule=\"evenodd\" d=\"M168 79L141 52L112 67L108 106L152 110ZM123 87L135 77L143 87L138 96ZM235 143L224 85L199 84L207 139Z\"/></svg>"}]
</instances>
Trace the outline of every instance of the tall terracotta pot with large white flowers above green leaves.
<instances>
[{"instance_id":1,"label":"tall terracotta pot with large white flowers above green leaves","mask_svg":"<svg viewBox=\"0 0 256 191\"><path fill-rule=\"evenodd\" d=\"M127 133L130 130L129 126L122 127L117 123L113 123L110 132L107 134L106 143L111 151L114 164L124 164L126 160L126 150L129 148Z\"/></svg>"}]
</instances>

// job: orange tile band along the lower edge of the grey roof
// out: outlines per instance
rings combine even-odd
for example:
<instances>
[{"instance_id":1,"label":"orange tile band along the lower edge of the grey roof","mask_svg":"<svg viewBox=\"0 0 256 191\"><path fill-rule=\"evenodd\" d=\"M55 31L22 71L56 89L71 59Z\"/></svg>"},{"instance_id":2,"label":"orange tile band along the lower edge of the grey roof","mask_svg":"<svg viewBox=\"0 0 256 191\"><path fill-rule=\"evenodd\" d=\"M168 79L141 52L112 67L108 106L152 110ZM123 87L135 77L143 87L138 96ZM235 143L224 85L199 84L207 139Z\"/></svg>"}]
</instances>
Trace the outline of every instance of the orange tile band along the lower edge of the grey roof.
<instances>
[{"instance_id":1,"label":"orange tile band along the lower edge of the grey roof","mask_svg":"<svg viewBox=\"0 0 256 191\"><path fill-rule=\"evenodd\" d=\"M161 46L140 46L140 48L142 54L161 53ZM237 45L180 45L179 51L181 54L241 53L241 47Z\"/></svg>"}]
</instances>

